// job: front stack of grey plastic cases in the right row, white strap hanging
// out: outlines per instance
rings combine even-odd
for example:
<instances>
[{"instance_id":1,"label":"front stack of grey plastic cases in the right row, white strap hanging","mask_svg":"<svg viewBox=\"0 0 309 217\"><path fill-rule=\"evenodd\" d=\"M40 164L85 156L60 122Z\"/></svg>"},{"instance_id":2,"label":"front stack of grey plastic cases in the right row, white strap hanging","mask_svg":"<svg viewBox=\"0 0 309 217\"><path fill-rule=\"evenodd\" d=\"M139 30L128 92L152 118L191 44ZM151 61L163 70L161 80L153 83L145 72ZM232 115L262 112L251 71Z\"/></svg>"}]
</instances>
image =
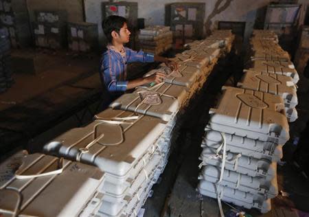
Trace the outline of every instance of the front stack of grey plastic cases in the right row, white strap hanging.
<instances>
[{"instance_id":1,"label":"front stack of grey plastic cases in the right row, white strap hanging","mask_svg":"<svg viewBox=\"0 0 309 217\"><path fill-rule=\"evenodd\" d=\"M224 87L205 128L201 194L236 205L271 210L277 196L277 161L289 139L284 100L260 91Z\"/></svg>"}]
</instances>

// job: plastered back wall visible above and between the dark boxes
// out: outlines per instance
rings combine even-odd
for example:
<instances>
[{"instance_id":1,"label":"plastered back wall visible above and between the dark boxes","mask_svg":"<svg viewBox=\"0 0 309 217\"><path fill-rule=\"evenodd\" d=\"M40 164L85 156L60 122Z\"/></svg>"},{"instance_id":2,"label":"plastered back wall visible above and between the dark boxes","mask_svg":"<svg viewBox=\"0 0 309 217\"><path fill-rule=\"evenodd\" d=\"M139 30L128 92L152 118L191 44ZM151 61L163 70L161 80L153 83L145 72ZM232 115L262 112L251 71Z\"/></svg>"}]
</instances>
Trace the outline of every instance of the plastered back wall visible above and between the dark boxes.
<instances>
[{"instance_id":1,"label":"plastered back wall visible above and between the dark boxes","mask_svg":"<svg viewBox=\"0 0 309 217\"><path fill-rule=\"evenodd\" d=\"M102 38L101 3L106 0L27 0L30 12L33 10L67 10L69 21L98 23L99 36ZM165 5L173 2L192 2L188 0L127 0L138 3L138 17L145 19L145 25L164 25ZM276 0L273 0L276 1ZM216 28L218 21L246 22L245 38L251 34L253 25L263 8L271 0L194 0L205 3L205 32ZM308 0L299 0L299 3ZM84 8L84 12L83 12ZM33 19L33 14L31 14ZM102 42L102 40L100 40Z\"/></svg>"}]
</instances>

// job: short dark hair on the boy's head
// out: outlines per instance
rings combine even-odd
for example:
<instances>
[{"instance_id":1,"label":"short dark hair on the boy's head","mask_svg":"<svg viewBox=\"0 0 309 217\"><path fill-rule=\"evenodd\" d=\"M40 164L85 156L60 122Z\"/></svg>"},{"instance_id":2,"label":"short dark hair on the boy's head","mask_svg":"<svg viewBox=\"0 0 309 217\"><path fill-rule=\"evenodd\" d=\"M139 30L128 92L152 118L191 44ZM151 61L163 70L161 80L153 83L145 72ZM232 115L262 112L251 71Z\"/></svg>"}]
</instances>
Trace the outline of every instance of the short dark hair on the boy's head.
<instances>
[{"instance_id":1,"label":"short dark hair on the boy's head","mask_svg":"<svg viewBox=\"0 0 309 217\"><path fill-rule=\"evenodd\" d=\"M111 33L115 31L119 34L119 31L124 26L124 23L127 23L126 19L122 16L116 15L108 16L102 21L102 29L109 43L113 40Z\"/></svg>"}]
</instances>

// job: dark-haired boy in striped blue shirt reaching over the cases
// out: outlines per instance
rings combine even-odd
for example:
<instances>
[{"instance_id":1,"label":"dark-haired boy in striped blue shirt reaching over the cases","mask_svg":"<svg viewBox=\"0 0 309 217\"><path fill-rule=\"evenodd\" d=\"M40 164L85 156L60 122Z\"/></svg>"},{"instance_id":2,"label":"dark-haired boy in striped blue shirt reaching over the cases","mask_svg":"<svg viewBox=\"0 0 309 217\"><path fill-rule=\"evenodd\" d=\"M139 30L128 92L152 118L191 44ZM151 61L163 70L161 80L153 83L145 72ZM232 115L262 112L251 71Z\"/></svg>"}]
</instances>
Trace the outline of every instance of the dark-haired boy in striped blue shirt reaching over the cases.
<instances>
[{"instance_id":1,"label":"dark-haired boy in striped blue shirt reaching over the cases","mask_svg":"<svg viewBox=\"0 0 309 217\"><path fill-rule=\"evenodd\" d=\"M134 89L151 82L163 82L165 78L163 73L155 73L147 78L127 80L127 64L129 62L165 62L168 67L177 69L176 62L172 62L167 58L142 51L135 52L128 47L124 47L124 44L130 40L130 31L124 17L108 16L102 22L102 28L108 40L108 45L102 55L100 77L111 95L121 95L128 89Z\"/></svg>"}]
</instances>

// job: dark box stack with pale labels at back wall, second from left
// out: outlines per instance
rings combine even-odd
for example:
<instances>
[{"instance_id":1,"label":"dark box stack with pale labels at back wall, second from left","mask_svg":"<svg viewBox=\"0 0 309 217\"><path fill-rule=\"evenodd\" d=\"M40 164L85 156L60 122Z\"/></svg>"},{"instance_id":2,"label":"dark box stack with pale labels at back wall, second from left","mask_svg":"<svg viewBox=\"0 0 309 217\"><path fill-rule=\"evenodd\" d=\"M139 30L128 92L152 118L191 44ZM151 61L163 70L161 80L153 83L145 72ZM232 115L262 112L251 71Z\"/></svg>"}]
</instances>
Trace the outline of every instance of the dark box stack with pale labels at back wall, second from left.
<instances>
[{"instance_id":1,"label":"dark box stack with pale labels at back wall, second from left","mask_svg":"<svg viewBox=\"0 0 309 217\"><path fill-rule=\"evenodd\" d=\"M34 38L37 47L61 49L67 46L67 12L35 11Z\"/></svg>"}]
</instances>

